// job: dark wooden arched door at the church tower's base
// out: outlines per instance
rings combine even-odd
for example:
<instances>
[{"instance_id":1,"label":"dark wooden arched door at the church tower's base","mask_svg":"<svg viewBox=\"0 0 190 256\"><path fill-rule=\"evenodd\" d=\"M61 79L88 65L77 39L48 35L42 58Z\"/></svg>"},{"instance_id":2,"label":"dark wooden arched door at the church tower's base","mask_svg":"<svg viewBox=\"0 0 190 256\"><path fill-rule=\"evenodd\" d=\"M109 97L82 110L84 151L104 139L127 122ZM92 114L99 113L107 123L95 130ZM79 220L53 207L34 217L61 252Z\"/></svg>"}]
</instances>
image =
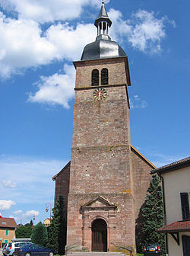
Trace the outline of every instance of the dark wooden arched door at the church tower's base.
<instances>
[{"instance_id":1,"label":"dark wooden arched door at the church tower's base","mask_svg":"<svg viewBox=\"0 0 190 256\"><path fill-rule=\"evenodd\" d=\"M107 224L103 219L92 223L92 251L107 251Z\"/></svg>"}]
</instances>

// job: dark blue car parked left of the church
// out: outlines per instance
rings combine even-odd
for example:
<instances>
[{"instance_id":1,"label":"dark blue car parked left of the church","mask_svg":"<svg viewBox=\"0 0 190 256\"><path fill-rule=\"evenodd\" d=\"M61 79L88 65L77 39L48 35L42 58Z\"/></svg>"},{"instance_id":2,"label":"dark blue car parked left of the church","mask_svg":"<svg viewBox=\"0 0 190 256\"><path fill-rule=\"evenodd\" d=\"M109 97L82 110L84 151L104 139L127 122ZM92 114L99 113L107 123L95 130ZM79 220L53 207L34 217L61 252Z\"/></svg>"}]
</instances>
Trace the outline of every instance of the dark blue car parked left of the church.
<instances>
[{"instance_id":1,"label":"dark blue car parked left of the church","mask_svg":"<svg viewBox=\"0 0 190 256\"><path fill-rule=\"evenodd\" d=\"M21 248L16 248L14 251L15 256L53 256L56 251L45 248L42 245L24 245Z\"/></svg>"}]
</instances>

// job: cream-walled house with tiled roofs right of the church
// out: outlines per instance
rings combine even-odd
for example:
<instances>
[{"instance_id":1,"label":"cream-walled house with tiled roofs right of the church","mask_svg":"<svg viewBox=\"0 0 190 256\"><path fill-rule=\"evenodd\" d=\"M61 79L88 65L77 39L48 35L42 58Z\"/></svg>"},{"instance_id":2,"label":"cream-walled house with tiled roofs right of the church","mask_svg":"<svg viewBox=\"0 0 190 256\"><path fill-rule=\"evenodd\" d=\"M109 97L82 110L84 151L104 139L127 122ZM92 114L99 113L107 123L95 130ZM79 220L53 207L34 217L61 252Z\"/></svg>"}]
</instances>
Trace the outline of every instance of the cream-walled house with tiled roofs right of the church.
<instances>
[{"instance_id":1,"label":"cream-walled house with tiled roofs right of the church","mask_svg":"<svg viewBox=\"0 0 190 256\"><path fill-rule=\"evenodd\" d=\"M169 256L190 256L190 157L152 171L163 183L165 225Z\"/></svg>"}]
</instances>

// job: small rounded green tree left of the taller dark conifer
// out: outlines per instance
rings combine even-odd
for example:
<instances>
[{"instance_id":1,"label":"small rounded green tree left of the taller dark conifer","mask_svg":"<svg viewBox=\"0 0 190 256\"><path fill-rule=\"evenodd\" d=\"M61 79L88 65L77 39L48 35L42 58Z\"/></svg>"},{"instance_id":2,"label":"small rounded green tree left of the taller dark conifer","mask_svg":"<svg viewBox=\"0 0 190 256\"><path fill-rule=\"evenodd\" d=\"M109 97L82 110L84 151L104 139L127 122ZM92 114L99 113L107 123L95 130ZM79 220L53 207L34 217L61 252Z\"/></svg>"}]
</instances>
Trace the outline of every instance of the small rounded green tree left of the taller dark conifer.
<instances>
[{"instance_id":1,"label":"small rounded green tree left of the taller dark conifer","mask_svg":"<svg viewBox=\"0 0 190 256\"><path fill-rule=\"evenodd\" d=\"M44 226L42 222L39 222L36 226L33 227L33 232L30 238L31 242L34 244L46 246L48 241L46 226Z\"/></svg>"}]
</instances>

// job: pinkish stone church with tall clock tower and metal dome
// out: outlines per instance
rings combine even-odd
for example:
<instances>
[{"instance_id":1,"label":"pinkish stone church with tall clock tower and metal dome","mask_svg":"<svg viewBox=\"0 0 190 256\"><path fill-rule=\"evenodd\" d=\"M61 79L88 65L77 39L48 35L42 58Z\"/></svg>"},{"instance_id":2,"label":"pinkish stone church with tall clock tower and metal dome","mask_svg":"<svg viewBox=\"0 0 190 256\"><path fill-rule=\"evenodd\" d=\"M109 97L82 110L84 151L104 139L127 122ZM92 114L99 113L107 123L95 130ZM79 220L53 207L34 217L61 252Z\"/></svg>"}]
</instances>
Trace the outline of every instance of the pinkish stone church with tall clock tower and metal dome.
<instances>
[{"instance_id":1,"label":"pinkish stone church with tall clock tower and metal dome","mask_svg":"<svg viewBox=\"0 0 190 256\"><path fill-rule=\"evenodd\" d=\"M135 251L135 229L155 166L131 146L128 56L109 37L104 2L97 38L74 62L71 161L52 179L67 216L66 254Z\"/></svg>"}]
</instances>

